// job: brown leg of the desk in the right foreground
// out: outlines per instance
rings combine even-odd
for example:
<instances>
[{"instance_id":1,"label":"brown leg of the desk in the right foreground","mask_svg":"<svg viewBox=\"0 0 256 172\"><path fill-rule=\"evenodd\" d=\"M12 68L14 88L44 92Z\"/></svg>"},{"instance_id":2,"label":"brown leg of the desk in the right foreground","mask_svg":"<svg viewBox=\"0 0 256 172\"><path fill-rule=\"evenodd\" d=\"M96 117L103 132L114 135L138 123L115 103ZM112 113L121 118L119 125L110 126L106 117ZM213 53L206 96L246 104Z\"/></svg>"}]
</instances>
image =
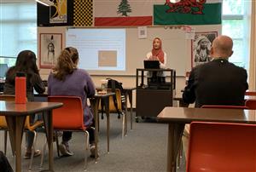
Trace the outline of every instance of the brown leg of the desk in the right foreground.
<instances>
[{"instance_id":1,"label":"brown leg of the desk in the right foreground","mask_svg":"<svg viewBox=\"0 0 256 172\"><path fill-rule=\"evenodd\" d=\"M167 148L167 171L176 171L177 152L183 135L184 124L169 123L168 148Z\"/></svg>"}]
</instances>

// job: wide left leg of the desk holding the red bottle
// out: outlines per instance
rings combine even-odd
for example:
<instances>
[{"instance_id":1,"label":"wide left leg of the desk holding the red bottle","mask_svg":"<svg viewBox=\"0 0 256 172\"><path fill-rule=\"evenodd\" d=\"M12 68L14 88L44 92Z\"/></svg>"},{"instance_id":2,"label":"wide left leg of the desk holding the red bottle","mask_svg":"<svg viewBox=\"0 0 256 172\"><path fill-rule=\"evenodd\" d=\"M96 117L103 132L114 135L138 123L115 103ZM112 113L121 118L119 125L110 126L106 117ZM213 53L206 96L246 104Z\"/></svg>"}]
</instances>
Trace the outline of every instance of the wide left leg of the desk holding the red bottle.
<instances>
[{"instance_id":1,"label":"wide left leg of the desk holding the red bottle","mask_svg":"<svg viewBox=\"0 0 256 172\"><path fill-rule=\"evenodd\" d=\"M9 138L15 151L15 171L21 172L21 142L26 116L6 117Z\"/></svg>"}]
</instances>

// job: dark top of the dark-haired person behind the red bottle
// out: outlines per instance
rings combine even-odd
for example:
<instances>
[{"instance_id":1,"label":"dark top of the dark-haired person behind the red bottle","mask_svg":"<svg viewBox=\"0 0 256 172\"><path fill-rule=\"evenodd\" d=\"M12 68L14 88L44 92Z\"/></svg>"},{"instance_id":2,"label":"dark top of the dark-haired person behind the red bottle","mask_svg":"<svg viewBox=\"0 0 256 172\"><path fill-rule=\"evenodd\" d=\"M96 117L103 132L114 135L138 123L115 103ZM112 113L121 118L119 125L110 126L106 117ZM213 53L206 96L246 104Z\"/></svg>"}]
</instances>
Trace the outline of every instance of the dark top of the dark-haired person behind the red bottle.
<instances>
[{"instance_id":1,"label":"dark top of the dark-haired person behind the red bottle","mask_svg":"<svg viewBox=\"0 0 256 172\"><path fill-rule=\"evenodd\" d=\"M10 67L9 71L6 72L3 94L15 95L15 76L15 67ZM29 72L26 73L26 97L29 101L34 100L33 89L35 89L38 94L43 94L45 91L44 83L40 75L35 72Z\"/></svg>"}]
</instances>

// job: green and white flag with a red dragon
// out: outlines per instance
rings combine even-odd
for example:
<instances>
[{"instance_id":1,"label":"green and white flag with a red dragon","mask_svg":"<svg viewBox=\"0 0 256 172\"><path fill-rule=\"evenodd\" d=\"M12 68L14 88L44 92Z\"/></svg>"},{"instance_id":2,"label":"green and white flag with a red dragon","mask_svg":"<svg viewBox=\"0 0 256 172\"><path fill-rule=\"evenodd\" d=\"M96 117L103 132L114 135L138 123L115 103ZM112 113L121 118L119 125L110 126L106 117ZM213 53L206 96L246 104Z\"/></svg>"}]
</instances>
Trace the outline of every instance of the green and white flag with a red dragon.
<instances>
[{"instance_id":1,"label":"green and white flag with a red dragon","mask_svg":"<svg viewBox=\"0 0 256 172\"><path fill-rule=\"evenodd\" d=\"M166 0L165 4L154 5L154 25L220 25L221 3L222 0Z\"/></svg>"}]
</instances>

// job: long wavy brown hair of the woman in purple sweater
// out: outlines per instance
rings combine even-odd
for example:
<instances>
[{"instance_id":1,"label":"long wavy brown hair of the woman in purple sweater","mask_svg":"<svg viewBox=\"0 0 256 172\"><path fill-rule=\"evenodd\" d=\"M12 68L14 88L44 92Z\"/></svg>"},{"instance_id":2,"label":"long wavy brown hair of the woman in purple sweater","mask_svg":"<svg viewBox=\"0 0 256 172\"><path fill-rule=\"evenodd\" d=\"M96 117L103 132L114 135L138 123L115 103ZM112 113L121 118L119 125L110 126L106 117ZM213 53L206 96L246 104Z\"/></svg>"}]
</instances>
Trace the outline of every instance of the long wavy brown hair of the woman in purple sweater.
<instances>
[{"instance_id":1,"label":"long wavy brown hair of the woman in purple sweater","mask_svg":"<svg viewBox=\"0 0 256 172\"><path fill-rule=\"evenodd\" d=\"M65 77L76 70L76 61L79 60L79 52L73 47L67 47L61 51L57 64L53 68L54 77L64 81Z\"/></svg>"}]
</instances>

